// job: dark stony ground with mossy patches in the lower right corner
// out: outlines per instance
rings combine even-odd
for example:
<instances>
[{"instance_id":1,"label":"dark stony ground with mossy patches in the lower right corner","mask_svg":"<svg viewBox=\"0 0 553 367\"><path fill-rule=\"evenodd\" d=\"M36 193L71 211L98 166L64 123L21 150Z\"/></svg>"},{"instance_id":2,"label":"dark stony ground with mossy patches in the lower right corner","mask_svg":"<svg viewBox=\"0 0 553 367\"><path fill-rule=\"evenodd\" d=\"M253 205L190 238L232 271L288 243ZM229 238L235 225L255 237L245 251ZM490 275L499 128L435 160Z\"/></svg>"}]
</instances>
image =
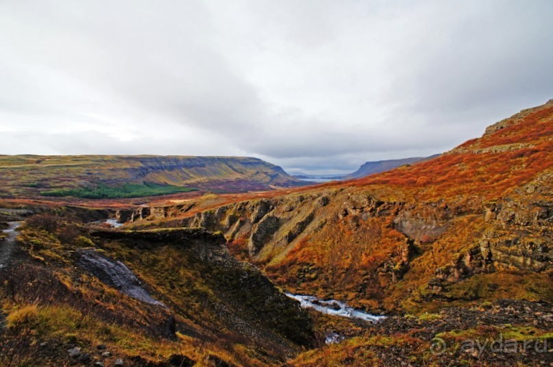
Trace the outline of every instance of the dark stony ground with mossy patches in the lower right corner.
<instances>
[{"instance_id":1,"label":"dark stony ground with mossy patches in the lower right corner","mask_svg":"<svg viewBox=\"0 0 553 367\"><path fill-rule=\"evenodd\" d=\"M288 366L553 366L549 303L499 300L376 325L319 320L345 337Z\"/></svg>"}]
</instances>

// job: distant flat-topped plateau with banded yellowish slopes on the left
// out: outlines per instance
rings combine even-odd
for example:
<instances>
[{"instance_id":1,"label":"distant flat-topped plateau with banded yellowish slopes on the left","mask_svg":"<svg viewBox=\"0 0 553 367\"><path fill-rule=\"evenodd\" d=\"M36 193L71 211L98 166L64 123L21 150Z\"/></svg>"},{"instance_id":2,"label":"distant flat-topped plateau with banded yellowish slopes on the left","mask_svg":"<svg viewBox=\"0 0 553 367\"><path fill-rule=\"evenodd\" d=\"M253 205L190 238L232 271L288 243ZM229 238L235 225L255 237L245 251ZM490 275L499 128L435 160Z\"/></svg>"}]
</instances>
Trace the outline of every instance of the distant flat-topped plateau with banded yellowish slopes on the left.
<instances>
[{"instance_id":1,"label":"distant flat-topped plateau with banded yellowish slopes on the left","mask_svg":"<svg viewBox=\"0 0 553 367\"><path fill-rule=\"evenodd\" d=\"M82 193L87 191L88 197L95 198L94 190L100 188L110 191L103 198L115 199L170 194L184 188L246 192L300 185L302 181L279 166L250 157L0 155L3 197L87 197Z\"/></svg>"}]
</instances>

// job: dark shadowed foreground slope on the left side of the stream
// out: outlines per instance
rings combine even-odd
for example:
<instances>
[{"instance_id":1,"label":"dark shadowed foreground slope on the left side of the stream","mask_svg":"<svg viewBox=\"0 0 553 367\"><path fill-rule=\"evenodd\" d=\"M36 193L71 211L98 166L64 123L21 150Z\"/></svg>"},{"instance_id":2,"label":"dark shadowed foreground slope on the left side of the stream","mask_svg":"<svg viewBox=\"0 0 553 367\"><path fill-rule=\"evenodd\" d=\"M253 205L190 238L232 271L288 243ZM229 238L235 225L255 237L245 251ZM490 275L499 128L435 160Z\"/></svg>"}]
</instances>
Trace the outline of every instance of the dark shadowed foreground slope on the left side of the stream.
<instances>
[{"instance_id":1,"label":"dark shadowed foreground slope on the left side of the stream","mask_svg":"<svg viewBox=\"0 0 553 367\"><path fill-rule=\"evenodd\" d=\"M266 366L314 341L308 314L220 234L41 214L19 240L0 264L1 366Z\"/></svg>"}]
</instances>

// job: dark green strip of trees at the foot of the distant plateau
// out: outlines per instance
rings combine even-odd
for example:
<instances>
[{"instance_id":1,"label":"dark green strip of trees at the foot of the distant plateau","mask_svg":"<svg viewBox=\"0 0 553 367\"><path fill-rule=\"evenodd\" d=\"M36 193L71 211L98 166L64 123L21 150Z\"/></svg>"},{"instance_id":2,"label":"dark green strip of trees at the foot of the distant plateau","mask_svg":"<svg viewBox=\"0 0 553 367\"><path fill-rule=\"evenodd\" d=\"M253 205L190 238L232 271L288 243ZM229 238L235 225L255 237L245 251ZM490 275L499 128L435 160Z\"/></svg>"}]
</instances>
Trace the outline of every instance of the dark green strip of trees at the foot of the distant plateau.
<instances>
[{"instance_id":1,"label":"dark green strip of trees at the foot of the distant plateau","mask_svg":"<svg viewBox=\"0 0 553 367\"><path fill-rule=\"evenodd\" d=\"M179 192L197 191L197 188L143 184L124 184L121 186L99 185L96 188L59 188L41 191L43 197L80 197L84 199L127 199L133 197L153 197L158 195L177 194Z\"/></svg>"}]
</instances>

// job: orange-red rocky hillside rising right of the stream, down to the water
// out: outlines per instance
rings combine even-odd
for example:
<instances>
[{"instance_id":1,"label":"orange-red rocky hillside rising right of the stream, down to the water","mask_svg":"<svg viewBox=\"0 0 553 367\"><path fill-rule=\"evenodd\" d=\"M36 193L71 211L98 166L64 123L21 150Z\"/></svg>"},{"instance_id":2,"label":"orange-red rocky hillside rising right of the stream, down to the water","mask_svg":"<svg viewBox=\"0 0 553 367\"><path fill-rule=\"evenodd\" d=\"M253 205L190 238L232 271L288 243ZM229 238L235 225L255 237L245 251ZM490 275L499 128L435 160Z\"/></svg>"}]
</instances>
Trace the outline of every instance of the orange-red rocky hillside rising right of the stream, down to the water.
<instances>
[{"instance_id":1,"label":"orange-red rocky hillside rising right of the stream, down to the water","mask_svg":"<svg viewBox=\"0 0 553 367\"><path fill-rule=\"evenodd\" d=\"M434 160L262 199L151 207L142 223L223 231L281 286L376 311L552 300L552 121L550 101Z\"/></svg>"}]
</instances>

